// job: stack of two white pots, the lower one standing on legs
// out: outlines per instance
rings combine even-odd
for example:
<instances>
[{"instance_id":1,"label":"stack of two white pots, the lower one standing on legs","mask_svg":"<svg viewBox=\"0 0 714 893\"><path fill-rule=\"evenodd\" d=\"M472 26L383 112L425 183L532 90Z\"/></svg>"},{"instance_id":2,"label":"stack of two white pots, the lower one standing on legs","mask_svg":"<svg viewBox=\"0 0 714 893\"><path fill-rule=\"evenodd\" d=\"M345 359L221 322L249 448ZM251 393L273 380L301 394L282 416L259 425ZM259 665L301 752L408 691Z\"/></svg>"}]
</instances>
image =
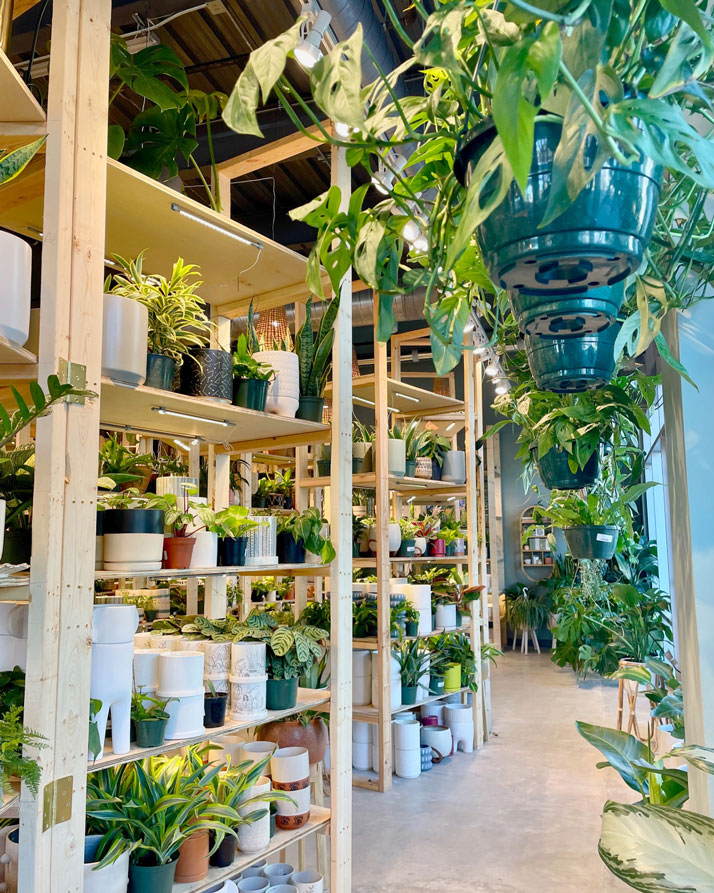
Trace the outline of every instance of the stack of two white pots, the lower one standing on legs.
<instances>
[{"instance_id":1,"label":"stack of two white pots, the lower one standing on legs","mask_svg":"<svg viewBox=\"0 0 714 893\"><path fill-rule=\"evenodd\" d=\"M101 750L112 714L114 753L129 752L134 633L139 625L135 605L95 605L92 614L92 675L89 697L102 706L96 716Z\"/></svg>"}]
</instances>

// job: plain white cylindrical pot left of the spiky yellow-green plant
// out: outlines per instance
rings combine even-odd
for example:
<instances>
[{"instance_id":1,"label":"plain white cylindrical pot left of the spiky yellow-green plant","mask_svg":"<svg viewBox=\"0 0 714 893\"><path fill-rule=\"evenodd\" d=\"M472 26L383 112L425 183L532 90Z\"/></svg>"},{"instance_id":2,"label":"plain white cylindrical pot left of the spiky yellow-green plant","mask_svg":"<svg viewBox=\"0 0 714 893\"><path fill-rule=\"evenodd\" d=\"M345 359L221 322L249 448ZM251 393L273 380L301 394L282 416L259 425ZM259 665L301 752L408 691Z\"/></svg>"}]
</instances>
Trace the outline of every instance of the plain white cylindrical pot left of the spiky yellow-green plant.
<instances>
[{"instance_id":1,"label":"plain white cylindrical pot left of the spiky yellow-green plant","mask_svg":"<svg viewBox=\"0 0 714 893\"><path fill-rule=\"evenodd\" d=\"M104 295L102 375L136 387L146 380L149 311L122 295Z\"/></svg>"}]
</instances>

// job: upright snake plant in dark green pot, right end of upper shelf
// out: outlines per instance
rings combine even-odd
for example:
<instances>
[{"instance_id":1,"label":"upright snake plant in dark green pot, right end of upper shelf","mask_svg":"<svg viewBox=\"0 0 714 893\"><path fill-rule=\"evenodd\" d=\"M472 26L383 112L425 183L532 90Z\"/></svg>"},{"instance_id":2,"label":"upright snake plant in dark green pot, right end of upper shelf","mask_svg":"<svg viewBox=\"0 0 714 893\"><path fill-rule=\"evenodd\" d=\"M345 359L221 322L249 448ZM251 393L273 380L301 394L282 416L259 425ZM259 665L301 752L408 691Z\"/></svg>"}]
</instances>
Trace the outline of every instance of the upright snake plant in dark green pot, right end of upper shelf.
<instances>
[{"instance_id":1,"label":"upright snake plant in dark green pot, right end of upper shelf","mask_svg":"<svg viewBox=\"0 0 714 893\"><path fill-rule=\"evenodd\" d=\"M305 304L305 322L295 336L295 353L300 366L300 402L296 414L299 419L322 421L322 410L325 406L323 394L332 369L334 322L339 306L339 297L329 302L317 332L313 334L312 295Z\"/></svg>"}]
</instances>

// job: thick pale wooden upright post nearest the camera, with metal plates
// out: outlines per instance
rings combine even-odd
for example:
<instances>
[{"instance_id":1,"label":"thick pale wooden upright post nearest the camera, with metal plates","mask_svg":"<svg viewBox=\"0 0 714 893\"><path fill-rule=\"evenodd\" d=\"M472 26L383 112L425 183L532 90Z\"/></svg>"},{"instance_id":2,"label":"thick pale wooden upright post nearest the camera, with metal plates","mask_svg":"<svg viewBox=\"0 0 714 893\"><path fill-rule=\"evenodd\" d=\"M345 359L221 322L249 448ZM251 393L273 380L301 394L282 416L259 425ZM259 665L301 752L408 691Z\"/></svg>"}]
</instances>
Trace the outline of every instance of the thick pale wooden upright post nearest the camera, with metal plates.
<instances>
[{"instance_id":1,"label":"thick pale wooden upright post nearest the camera, with metal plates","mask_svg":"<svg viewBox=\"0 0 714 893\"><path fill-rule=\"evenodd\" d=\"M109 0L55 0L42 252L40 380L60 359L101 381ZM25 724L47 738L30 749L42 770L23 785L19 889L82 887L87 727L94 601L98 400L65 403L37 423ZM48 787L68 780L69 809Z\"/></svg>"}]
</instances>

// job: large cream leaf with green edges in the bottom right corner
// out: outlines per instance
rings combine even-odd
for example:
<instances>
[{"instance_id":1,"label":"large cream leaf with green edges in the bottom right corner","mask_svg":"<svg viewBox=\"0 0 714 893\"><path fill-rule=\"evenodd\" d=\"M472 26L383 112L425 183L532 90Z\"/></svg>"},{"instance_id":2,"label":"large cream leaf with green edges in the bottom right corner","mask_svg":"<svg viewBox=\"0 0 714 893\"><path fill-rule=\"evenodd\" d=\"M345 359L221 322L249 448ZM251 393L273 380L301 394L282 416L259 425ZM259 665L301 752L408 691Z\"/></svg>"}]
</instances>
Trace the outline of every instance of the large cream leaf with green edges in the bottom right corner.
<instances>
[{"instance_id":1,"label":"large cream leaf with green edges in the bottom right corner","mask_svg":"<svg viewBox=\"0 0 714 893\"><path fill-rule=\"evenodd\" d=\"M714 890L714 821L671 806L608 802L600 858L642 893Z\"/></svg>"}]
</instances>

